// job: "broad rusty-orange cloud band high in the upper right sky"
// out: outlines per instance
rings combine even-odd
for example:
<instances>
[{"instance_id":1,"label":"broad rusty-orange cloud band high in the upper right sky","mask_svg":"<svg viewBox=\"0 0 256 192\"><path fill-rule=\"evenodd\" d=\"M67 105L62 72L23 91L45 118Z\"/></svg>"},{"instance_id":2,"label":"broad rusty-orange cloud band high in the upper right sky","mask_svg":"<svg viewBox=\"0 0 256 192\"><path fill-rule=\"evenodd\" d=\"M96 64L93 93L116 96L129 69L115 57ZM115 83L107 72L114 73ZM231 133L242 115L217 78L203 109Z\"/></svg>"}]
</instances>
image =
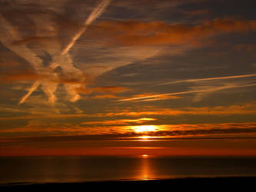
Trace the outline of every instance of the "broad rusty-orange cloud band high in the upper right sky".
<instances>
[{"instance_id":1,"label":"broad rusty-orange cloud band high in the upper right sky","mask_svg":"<svg viewBox=\"0 0 256 192\"><path fill-rule=\"evenodd\" d=\"M198 45L215 35L247 31L256 31L255 20L216 18L201 25L160 21L102 21L98 24L98 35L108 35L111 43L119 45Z\"/></svg>"}]
</instances>

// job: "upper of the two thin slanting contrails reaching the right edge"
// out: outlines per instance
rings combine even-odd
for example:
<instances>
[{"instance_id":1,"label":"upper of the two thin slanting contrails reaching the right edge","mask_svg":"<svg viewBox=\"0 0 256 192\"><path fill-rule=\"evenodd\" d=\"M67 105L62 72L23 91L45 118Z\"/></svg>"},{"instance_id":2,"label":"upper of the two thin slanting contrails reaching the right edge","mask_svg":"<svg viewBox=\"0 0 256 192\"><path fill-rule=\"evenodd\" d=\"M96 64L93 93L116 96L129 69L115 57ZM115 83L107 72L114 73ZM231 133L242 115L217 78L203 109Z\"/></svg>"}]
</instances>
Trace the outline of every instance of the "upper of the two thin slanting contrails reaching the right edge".
<instances>
[{"instance_id":1,"label":"upper of the two thin slanting contrails reaching the right edge","mask_svg":"<svg viewBox=\"0 0 256 192\"><path fill-rule=\"evenodd\" d=\"M185 82L195 82L195 81L211 81L211 80L221 80L221 79L229 79L229 78L250 78L255 77L256 74L241 74L241 75L233 75L233 76L224 76L224 77L217 77L217 78L192 78L192 79L186 79L181 81L171 81L161 84L155 84L151 87L159 86L159 85L165 85L165 84L178 84L178 83L185 83Z\"/></svg>"}]
</instances>

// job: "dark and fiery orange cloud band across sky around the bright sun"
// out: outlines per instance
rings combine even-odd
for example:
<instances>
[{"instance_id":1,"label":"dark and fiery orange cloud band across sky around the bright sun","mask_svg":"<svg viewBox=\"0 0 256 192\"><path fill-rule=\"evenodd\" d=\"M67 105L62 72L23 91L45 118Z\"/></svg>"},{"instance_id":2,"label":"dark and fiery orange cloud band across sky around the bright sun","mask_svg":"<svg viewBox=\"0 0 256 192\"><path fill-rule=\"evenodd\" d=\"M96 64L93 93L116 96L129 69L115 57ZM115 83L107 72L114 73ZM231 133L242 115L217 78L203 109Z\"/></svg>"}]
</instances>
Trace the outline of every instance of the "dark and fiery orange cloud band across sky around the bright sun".
<instances>
[{"instance_id":1,"label":"dark and fiery orange cloud band across sky around the bright sun","mask_svg":"<svg viewBox=\"0 0 256 192\"><path fill-rule=\"evenodd\" d=\"M163 127L163 130L161 130ZM52 129L52 131L51 131ZM5 142L50 142L50 141L138 141L141 136L147 136L156 141L175 141L175 140L250 140L256 139L256 123L237 123L237 124L176 124L159 125L158 131L139 133L129 130L127 126L101 127L101 130L85 129L85 127L51 127L51 129L24 127L12 130L2 130L2 133L18 132L49 132L52 136L46 137L7 137L0 139ZM61 134L61 135L60 135ZM69 134L69 135L63 135ZM70 135L72 134L72 135ZM10 140L10 141L8 141Z\"/></svg>"}]
</instances>

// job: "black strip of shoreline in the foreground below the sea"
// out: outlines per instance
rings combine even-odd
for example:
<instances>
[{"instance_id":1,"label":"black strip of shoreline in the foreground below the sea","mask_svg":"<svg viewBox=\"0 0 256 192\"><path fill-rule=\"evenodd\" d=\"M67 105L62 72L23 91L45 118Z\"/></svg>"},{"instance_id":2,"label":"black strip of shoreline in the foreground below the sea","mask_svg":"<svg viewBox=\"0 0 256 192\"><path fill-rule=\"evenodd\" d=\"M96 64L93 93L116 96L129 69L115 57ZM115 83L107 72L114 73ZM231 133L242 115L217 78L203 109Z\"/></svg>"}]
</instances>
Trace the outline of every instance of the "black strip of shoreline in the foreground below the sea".
<instances>
[{"instance_id":1,"label":"black strip of shoreline in the foreground below the sea","mask_svg":"<svg viewBox=\"0 0 256 192\"><path fill-rule=\"evenodd\" d=\"M88 189L116 189L133 190L142 187L144 190L158 189L203 189L203 190L221 190L221 189L254 189L256 177L188 177L180 179L166 180L106 180L91 181L82 183L48 183L48 184L2 184L0 191L38 191L38 190L88 190ZM165 188L163 188L165 187Z\"/></svg>"}]
</instances>

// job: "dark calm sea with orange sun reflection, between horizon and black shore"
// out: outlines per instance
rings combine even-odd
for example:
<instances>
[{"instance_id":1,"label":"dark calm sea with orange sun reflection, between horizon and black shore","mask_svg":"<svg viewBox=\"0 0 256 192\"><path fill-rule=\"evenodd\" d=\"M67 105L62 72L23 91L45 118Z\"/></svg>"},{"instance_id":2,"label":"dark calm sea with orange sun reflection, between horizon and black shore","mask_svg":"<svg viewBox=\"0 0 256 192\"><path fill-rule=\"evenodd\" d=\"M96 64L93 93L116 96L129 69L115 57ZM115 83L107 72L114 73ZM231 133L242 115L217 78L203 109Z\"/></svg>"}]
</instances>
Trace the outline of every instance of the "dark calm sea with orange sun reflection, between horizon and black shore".
<instances>
[{"instance_id":1,"label":"dark calm sea with orange sun reflection, between horizon and black shore","mask_svg":"<svg viewBox=\"0 0 256 192\"><path fill-rule=\"evenodd\" d=\"M0 184L256 176L256 157L0 157Z\"/></svg>"}]
</instances>

